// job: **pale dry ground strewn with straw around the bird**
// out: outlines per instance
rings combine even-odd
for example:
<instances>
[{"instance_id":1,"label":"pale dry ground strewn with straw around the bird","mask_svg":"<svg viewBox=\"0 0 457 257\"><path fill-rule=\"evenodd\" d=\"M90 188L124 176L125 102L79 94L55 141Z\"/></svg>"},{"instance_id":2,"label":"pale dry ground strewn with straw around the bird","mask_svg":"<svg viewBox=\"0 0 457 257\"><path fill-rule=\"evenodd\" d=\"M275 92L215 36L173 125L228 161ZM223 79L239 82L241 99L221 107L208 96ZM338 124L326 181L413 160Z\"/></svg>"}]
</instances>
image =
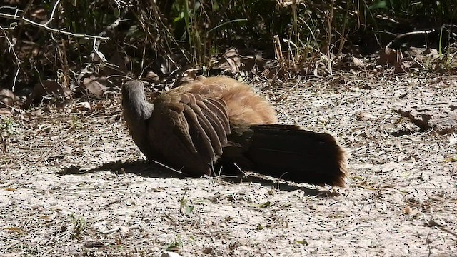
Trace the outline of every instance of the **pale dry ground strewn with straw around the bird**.
<instances>
[{"instance_id":1,"label":"pale dry ground strewn with straw around the bird","mask_svg":"<svg viewBox=\"0 0 457 257\"><path fill-rule=\"evenodd\" d=\"M455 137L393 112L456 101L457 78L356 78L261 86L284 122L338 138L346 188L154 168L127 136L119 96L16 112L0 161L0 256L159 256L167 247L182 256L457 256Z\"/></svg>"}]
</instances>

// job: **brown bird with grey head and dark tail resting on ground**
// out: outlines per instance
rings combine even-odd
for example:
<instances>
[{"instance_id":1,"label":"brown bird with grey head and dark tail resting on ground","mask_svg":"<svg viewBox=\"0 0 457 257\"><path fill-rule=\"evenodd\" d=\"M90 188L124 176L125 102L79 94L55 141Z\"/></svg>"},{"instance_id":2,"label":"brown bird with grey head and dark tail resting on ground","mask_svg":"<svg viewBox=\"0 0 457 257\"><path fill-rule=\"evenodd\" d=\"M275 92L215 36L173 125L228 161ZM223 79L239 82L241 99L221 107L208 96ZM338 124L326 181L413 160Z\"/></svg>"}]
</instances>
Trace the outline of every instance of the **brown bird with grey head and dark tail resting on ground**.
<instances>
[{"instance_id":1,"label":"brown bird with grey head and dark tail resting on ground","mask_svg":"<svg viewBox=\"0 0 457 257\"><path fill-rule=\"evenodd\" d=\"M344 151L327 133L278 124L250 86L201 78L146 100L141 81L122 87L129 132L149 160L192 176L254 171L289 181L344 186Z\"/></svg>"}]
</instances>

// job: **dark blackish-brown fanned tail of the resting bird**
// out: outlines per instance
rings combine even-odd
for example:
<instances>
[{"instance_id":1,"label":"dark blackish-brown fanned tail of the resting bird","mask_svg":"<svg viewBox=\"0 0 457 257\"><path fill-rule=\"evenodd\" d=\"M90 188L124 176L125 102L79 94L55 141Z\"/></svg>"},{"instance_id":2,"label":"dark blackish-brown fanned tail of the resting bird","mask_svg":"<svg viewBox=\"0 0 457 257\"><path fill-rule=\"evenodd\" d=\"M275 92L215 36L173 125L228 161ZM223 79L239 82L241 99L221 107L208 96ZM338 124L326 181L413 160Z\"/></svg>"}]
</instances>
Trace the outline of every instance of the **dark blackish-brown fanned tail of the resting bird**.
<instances>
[{"instance_id":1,"label":"dark blackish-brown fanned tail of the resting bird","mask_svg":"<svg viewBox=\"0 0 457 257\"><path fill-rule=\"evenodd\" d=\"M288 181L345 185L345 153L327 133L276 124L249 126L238 135L233 132L233 141L243 153L232 160L242 168Z\"/></svg>"}]
</instances>

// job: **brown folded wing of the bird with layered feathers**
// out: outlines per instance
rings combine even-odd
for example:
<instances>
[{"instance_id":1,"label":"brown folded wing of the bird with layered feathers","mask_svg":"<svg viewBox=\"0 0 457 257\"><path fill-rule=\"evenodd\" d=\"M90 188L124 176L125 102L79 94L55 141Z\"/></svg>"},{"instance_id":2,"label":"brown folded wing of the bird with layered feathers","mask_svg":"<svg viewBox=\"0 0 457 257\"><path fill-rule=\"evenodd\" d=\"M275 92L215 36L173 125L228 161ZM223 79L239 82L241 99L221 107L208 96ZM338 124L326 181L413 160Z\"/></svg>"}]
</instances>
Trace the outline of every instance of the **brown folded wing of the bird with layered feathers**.
<instances>
[{"instance_id":1,"label":"brown folded wing of the bird with layered feathers","mask_svg":"<svg viewBox=\"0 0 457 257\"><path fill-rule=\"evenodd\" d=\"M196 175L209 175L230 133L225 102L191 93L157 96L148 126L149 143L164 161Z\"/></svg>"}]
</instances>

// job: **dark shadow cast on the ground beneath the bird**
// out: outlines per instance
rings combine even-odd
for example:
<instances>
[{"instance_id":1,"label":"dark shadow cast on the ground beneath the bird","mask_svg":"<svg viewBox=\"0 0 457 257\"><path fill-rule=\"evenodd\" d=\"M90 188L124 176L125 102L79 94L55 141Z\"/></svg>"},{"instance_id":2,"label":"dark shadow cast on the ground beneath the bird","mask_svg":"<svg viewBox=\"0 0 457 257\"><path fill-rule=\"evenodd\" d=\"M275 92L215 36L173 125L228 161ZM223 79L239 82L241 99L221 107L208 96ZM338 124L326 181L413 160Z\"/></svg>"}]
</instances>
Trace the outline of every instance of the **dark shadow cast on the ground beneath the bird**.
<instances>
[{"instance_id":1,"label":"dark shadow cast on the ground beneath the bird","mask_svg":"<svg viewBox=\"0 0 457 257\"><path fill-rule=\"evenodd\" d=\"M96 168L91 169L82 169L76 166L69 166L63 168L59 171L59 175L77 175L77 174L86 174L94 173L100 171L111 171L116 174L122 173L134 173L139 176L149 177L149 178L190 178L191 176L186 176L186 174L176 172L169 168L164 168L149 161L131 161L128 163L123 163L122 161L113 161L101 164ZM229 183L259 183L262 186L269 188L277 188L279 191L296 191L301 190L305 193L306 196L317 196L317 197L336 197L340 193L327 190L325 188L320 188L316 186L298 186L293 183L286 183L279 181L277 178L269 178L268 176L263 176L258 173L244 173L239 176L216 176L212 179L221 179Z\"/></svg>"}]
</instances>

